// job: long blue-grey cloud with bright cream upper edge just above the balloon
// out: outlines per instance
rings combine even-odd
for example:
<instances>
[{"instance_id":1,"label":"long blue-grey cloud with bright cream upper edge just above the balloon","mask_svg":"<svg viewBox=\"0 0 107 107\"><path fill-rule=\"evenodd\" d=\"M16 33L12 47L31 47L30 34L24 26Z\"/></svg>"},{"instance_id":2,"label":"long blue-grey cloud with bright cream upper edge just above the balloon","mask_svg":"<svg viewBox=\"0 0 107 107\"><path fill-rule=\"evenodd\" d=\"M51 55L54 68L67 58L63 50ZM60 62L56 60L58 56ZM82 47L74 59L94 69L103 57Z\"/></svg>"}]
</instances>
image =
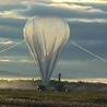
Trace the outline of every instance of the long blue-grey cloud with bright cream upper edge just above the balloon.
<instances>
[{"instance_id":1,"label":"long blue-grey cloud with bright cream upper edge just above the balloon","mask_svg":"<svg viewBox=\"0 0 107 107\"><path fill-rule=\"evenodd\" d=\"M106 19L107 14L100 9L92 5L82 5L74 3L36 3L31 4L26 10L19 11L20 15L58 15L61 17L79 17L79 19Z\"/></svg>"}]
</instances>

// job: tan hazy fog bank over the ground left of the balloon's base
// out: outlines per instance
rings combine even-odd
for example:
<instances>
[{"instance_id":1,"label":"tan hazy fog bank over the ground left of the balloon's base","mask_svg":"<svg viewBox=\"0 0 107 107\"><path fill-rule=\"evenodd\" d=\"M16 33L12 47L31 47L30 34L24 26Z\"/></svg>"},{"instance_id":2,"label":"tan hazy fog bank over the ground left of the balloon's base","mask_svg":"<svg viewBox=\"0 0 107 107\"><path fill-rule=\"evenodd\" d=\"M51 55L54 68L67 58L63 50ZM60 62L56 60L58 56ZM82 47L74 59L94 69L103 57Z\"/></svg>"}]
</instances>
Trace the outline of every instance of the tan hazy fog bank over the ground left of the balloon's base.
<instances>
[{"instance_id":1,"label":"tan hazy fog bank over the ground left of the balloon's base","mask_svg":"<svg viewBox=\"0 0 107 107\"><path fill-rule=\"evenodd\" d=\"M35 80L0 80L0 88L4 90L36 90L40 81Z\"/></svg>"}]
</instances>

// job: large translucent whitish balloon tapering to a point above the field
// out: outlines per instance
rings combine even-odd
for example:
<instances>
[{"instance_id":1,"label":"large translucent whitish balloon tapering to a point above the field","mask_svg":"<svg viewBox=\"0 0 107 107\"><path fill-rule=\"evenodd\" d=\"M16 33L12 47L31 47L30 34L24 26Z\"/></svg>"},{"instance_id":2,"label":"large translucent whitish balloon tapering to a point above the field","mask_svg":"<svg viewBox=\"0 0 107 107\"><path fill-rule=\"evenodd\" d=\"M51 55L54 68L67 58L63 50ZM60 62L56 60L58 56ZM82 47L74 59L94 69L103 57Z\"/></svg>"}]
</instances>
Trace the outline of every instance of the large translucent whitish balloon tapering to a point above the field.
<instances>
[{"instance_id":1,"label":"large translucent whitish balloon tapering to a point above the field","mask_svg":"<svg viewBox=\"0 0 107 107\"><path fill-rule=\"evenodd\" d=\"M69 25L60 17L37 15L25 24L24 38L45 86L49 83L69 35Z\"/></svg>"}]
</instances>

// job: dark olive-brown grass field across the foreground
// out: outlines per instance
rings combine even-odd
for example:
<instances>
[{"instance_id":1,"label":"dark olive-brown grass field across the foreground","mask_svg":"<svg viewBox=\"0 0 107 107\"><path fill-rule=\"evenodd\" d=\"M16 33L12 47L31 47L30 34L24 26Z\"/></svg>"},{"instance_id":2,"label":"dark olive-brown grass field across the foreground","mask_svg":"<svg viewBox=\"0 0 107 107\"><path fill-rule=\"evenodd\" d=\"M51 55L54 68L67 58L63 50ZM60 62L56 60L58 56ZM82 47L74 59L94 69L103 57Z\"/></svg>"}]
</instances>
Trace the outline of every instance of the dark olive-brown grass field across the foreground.
<instances>
[{"instance_id":1,"label":"dark olive-brown grass field across the foreground","mask_svg":"<svg viewBox=\"0 0 107 107\"><path fill-rule=\"evenodd\" d=\"M107 93L0 90L0 107L107 107Z\"/></svg>"}]
</instances>

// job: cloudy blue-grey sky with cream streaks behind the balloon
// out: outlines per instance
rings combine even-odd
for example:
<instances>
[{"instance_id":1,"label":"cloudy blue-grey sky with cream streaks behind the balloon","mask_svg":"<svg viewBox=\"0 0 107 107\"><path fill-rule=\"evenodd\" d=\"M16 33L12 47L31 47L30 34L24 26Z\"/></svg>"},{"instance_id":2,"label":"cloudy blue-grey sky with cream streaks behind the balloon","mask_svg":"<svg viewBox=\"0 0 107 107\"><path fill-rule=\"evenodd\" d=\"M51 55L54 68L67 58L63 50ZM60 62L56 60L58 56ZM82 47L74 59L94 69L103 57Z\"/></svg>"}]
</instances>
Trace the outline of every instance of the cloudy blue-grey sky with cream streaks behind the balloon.
<instances>
[{"instance_id":1,"label":"cloudy blue-grey sky with cream streaks behind the balloon","mask_svg":"<svg viewBox=\"0 0 107 107\"><path fill-rule=\"evenodd\" d=\"M24 40L23 28L34 15L60 16L70 26L70 39L52 78L58 73L63 79L107 78L107 62L71 43L107 59L107 0L0 0L0 51ZM0 52L0 70L39 76L25 43Z\"/></svg>"}]
</instances>

